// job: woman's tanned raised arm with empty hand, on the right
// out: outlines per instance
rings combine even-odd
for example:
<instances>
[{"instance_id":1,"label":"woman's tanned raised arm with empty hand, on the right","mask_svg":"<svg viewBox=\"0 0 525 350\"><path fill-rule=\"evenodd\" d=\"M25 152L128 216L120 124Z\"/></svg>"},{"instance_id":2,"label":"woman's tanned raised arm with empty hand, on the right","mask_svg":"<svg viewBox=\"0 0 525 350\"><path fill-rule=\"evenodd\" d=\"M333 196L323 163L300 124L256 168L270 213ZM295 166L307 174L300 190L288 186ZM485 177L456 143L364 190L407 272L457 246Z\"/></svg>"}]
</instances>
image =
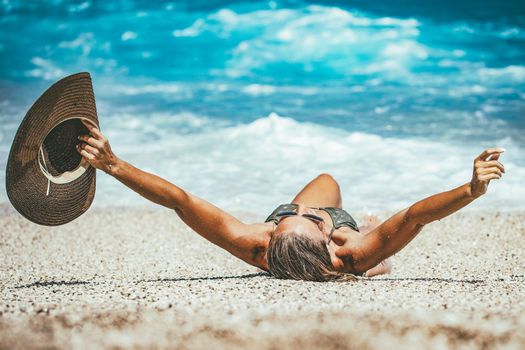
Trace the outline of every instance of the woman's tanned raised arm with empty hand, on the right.
<instances>
[{"instance_id":1,"label":"woman's tanned raised arm with empty hand, on the right","mask_svg":"<svg viewBox=\"0 0 525 350\"><path fill-rule=\"evenodd\" d=\"M474 160L472 180L453 190L425 198L396 213L359 241L346 241L334 235L341 247L336 251L345 266L355 272L366 271L405 247L428 223L440 220L468 205L487 191L491 180L505 172L498 161L501 148L487 149Z\"/></svg>"}]
</instances>

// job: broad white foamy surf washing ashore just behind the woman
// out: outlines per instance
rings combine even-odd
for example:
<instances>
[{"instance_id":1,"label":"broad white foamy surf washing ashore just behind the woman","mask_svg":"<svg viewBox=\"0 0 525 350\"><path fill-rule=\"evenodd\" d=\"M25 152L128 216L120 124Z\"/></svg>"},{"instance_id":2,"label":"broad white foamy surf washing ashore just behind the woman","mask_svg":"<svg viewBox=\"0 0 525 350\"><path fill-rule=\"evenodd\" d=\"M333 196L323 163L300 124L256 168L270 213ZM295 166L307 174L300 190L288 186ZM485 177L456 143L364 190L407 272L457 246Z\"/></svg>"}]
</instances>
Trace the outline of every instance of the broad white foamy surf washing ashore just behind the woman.
<instances>
[{"instance_id":1,"label":"broad white foamy surf washing ashore just behind the woman","mask_svg":"<svg viewBox=\"0 0 525 350\"><path fill-rule=\"evenodd\" d=\"M401 209L467 182L482 150L482 145L348 133L276 114L237 126L192 114L140 120L111 118L105 130L117 154L226 209L269 211L324 172L340 182L350 210ZM183 129L188 123L195 126L189 133ZM497 145L507 148L502 157L507 174L471 208L524 209L522 150L509 139ZM99 205L145 203L101 177Z\"/></svg>"}]
</instances>

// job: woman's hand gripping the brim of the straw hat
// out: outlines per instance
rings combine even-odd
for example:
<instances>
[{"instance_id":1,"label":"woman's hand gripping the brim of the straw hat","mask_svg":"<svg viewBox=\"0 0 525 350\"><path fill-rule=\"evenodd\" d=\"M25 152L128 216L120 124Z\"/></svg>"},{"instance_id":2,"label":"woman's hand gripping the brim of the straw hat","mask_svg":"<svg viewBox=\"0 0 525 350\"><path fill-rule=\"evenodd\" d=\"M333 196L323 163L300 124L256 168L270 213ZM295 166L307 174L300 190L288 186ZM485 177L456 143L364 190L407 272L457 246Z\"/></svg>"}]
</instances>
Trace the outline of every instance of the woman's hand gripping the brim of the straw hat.
<instances>
[{"instance_id":1,"label":"woman's hand gripping the brim of the straw hat","mask_svg":"<svg viewBox=\"0 0 525 350\"><path fill-rule=\"evenodd\" d=\"M89 135L78 137L79 140L83 141L83 143L77 146L78 153L80 153L91 166L111 175L119 159L111 150L109 141L95 126L83 120L82 123L89 130Z\"/></svg>"}]
</instances>

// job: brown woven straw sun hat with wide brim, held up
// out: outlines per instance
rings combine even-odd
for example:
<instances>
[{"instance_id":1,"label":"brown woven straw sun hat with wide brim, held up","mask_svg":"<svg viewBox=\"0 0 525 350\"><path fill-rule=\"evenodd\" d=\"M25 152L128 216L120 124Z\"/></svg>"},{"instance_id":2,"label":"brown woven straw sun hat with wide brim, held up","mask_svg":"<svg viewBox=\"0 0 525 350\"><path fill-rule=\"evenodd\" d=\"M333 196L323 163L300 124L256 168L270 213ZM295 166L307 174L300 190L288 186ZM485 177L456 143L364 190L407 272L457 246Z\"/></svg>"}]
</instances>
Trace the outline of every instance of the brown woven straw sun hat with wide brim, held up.
<instances>
[{"instance_id":1,"label":"brown woven straw sun hat with wide brim, held up","mask_svg":"<svg viewBox=\"0 0 525 350\"><path fill-rule=\"evenodd\" d=\"M20 214L41 225L74 220L95 196L95 169L76 151L78 136L98 127L89 73L65 77L27 112L7 161L7 196Z\"/></svg>"}]
</instances>

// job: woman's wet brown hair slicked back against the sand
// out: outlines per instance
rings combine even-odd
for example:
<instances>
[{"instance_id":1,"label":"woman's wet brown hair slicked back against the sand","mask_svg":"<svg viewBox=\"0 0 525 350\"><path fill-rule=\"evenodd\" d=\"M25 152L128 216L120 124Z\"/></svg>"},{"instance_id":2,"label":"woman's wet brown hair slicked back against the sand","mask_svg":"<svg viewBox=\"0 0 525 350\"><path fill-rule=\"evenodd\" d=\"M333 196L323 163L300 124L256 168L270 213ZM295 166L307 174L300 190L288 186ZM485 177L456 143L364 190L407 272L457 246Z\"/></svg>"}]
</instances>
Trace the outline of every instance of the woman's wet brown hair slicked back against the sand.
<instances>
[{"instance_id":1,"label":"woman's wet brown hair slicked back against the sand","mask_svg":"<svg viewBox=\"0 0 525 350\"><path fill-rule=\"evenodd\" d=\"M274 234L267 251L268 270L276 278L305 281L353 281L352 274L336 271L322 239L283 232Z\"/></svg>"}]
</instances>

